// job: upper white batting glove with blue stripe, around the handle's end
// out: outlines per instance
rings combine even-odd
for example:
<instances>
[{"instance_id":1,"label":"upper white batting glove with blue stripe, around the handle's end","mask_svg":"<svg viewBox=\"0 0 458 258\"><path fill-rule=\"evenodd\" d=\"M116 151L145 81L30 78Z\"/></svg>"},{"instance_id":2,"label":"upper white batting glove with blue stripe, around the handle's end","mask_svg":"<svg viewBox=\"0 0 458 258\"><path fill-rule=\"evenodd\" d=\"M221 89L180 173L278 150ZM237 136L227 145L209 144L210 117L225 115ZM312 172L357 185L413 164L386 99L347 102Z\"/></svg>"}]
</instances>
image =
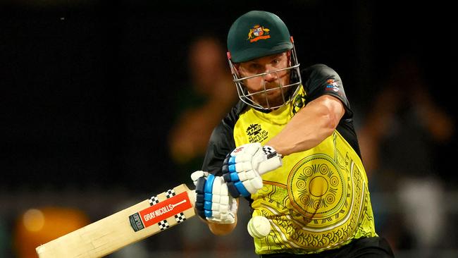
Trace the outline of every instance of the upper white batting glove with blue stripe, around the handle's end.
<instances>
[{"instance_id":1,"label":"upper white batting glove with blue stripe, around the handle's end","mask_svg":"<svg viewBox=\"0 0 458 258\"><path fill-rule=\"evenodd\" d=\"M237 147L223 163L223 179L228 184L232 197L248 197L262 188L260 173L266 173L278 166L268 168L268 171L259 171L261 163L273 156L278 156L273 147L262 146L259 142L249 143ZM266 169L266 168L264 168Z\"/></svg>"}]
</instances>

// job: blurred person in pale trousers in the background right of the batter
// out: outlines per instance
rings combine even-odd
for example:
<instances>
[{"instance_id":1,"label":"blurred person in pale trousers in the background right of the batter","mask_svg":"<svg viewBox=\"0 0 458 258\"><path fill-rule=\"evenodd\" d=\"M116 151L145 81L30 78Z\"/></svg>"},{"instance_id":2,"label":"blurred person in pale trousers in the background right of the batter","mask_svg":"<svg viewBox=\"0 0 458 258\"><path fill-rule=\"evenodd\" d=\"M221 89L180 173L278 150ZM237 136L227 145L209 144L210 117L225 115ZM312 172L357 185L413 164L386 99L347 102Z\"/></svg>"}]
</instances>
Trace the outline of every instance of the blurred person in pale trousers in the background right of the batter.
<instances>
[{"instance_id":1,"label":"blurred person in pale trousers in the background right of the batter","mask_svg":"<svg viewBox=\"0 0 458 258\"><path fill-rule=\"evenodd\" d=\"M402 57L380 87L359 129L364 166L374 188L395 193L395 213L380 219L380 230L398 250L419 250L417 257L434 257L444 242L447 204L438 171L442 148L454 137L454 121L435 102L419 63ZM395 178L395 180L393 180ZM378 205L375 205L377 207Z\"/></svg>"}]
</instances>

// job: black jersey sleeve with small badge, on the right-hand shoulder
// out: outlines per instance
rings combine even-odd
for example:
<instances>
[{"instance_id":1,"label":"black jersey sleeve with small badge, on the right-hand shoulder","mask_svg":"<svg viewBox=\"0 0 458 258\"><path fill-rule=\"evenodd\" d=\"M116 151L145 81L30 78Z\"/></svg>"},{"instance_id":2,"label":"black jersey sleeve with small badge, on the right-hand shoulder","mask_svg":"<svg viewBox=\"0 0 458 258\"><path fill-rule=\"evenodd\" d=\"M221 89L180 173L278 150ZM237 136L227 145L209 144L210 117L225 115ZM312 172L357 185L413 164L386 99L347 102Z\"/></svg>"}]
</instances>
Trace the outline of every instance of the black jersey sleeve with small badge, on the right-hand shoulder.
<instances>
[{"instance_id":1,"label":"black jersey sleeve with small badge, on the right-hand shoulder","mask_svg":"<svg viewBox=\"0 0 458 258\"><path fill-rule=\"evenodd\" d=\"M316 64L304 69L302 73L307 80L304 82L304 90L307 92L307 102L323 95L331 95L340 99L345 107L344 118L352 118L347 96L338 73L324 64Z\"/></svg>"}]
</instances>

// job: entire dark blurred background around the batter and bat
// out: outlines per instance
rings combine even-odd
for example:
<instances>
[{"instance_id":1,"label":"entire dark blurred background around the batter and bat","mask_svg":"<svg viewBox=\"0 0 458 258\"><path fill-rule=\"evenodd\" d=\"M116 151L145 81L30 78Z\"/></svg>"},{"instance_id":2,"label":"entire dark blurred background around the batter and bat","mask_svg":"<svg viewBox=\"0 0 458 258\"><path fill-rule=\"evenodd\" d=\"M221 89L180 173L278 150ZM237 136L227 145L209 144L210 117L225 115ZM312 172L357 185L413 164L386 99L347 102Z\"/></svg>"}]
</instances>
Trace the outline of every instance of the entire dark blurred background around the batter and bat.
<instances>
[{"instance_id":1,"label":"entire dark blurred background around the batter and bat","mask_svg":"<svg viewBox=\"0 0 458 258\"><path fill-rule=\"evenodd\" d=\"M458 257L452 13L419 1L0 2L0 257L180 183L237 101L235 18L276 13L301 67L340 74L355 112L376 229L397 257ZM454 53L454 54L453 54ZM110 257L256 257L240 225L187 221Z\"/></svg>"}]
</instances>

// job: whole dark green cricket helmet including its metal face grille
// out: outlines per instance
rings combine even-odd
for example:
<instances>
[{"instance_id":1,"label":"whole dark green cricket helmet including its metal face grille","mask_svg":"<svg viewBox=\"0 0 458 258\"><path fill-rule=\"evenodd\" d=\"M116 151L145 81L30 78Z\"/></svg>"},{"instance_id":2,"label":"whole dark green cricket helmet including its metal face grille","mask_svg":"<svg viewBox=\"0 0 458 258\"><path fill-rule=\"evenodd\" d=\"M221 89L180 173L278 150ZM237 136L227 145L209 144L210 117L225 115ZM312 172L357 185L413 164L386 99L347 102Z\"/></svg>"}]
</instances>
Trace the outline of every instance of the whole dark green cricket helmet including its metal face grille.
<instances>
[{"instance_id":1,"label":"whole dark green cricket helmet including its metal face grille","mask_svg":"<svg viewBox=\"0 0 458 258\"><path fill-rule=\"evenodd\" d=\"M249 11L237 18L233 25L231 25L227 43L229 65L242 102L258 109L271 110L284 106L294 99L297 92L299 92L301 77L295 45L283 20L267 11ZM280 54L285 51L290 51L289 66L280 70L270 70L266 73L243 78L234 65L235 63L243 63L263 56ZM261 90L261 92L249 93L243 85L244 80L257 76L265 76L268 73L278 73L283 70L290 73L290 82L287 85L281 85L279 83L283 94L283 104L276 106L267 104L267 106L262 106L254 102L252 98L254 94L263 94L268 90L264 87L264 90Z\"/></svg>"}]
</instances>

